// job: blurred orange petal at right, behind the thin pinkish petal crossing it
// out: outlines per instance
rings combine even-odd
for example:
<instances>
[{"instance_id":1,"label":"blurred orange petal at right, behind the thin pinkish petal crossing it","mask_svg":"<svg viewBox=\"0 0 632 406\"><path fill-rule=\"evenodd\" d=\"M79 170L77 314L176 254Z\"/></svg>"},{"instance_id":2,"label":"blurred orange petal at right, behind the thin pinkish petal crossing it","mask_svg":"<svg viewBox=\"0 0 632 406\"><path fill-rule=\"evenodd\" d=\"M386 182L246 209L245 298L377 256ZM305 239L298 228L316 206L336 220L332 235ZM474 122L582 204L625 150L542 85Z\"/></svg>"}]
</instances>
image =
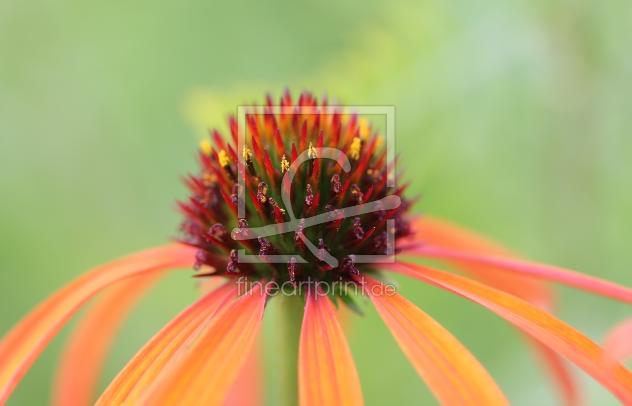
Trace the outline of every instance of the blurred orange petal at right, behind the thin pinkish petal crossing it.
<instances>
[{"instance_id":1,"label":"blurred orange petal at right, behind the thin pinkish petal crossing it","mask_svg":"<svg viewBox=\"0 0 632 406\"><path fill-rule=\"evenodd\" d=\"M459 250L459 252L475 255L494 255L503 258L518 258L504 246L491 241L475 231L463 228L442 219L423 216L414 224L418 233L413 241L422 242L421 249L430 244L433 248L443 250ZM407 250L404 254L418 255L416 250ZM456 269L466 272L478 281L481 281L495 289L507 292L537 306L549 313L553 311L555 294L544 282L537 281L524 275L510 274L487 264L468 262L460 258L437 258L444 260ZM528 337L527 337L528 339ZM544 364L544 368L554 377L557 390L561 393L565 404L568 406L581 405L582 397L578 383L568 363L561 359L554 351L546 351L542 345L533 346L538 359Z\"/></svg>"}]
</instances>

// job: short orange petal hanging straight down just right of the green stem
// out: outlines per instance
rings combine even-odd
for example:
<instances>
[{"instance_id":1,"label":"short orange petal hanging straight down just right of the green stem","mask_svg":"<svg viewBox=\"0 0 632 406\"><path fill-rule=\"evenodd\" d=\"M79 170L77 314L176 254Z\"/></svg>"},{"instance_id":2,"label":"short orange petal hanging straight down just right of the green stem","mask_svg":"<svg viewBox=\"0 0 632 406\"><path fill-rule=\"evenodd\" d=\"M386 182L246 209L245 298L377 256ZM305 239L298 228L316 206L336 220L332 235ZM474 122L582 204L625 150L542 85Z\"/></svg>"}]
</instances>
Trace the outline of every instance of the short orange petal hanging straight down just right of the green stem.
<instances>
[{"instance_id":1,"label":"short orange petal hanging straight down just right of the green stem","mask_svg":"<svg viewBox=\"0 0 632 406\"><path fill-rule=\"evenodd\" d=\"M301 406L363 405L360 378L327 296L307 294L298 349Z\"/></svg>"}]
</instances>

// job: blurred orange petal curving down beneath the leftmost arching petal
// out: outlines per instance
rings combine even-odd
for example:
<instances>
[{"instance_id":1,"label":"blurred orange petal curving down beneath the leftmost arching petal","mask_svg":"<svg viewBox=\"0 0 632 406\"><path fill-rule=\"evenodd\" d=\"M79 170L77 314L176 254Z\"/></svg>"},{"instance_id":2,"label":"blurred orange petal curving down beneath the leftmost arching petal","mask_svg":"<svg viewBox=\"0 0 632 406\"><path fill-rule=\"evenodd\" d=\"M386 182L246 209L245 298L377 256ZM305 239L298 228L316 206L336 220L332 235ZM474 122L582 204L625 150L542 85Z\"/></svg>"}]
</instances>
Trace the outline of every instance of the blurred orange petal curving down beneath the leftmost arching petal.
<instances>
[{"instance_id":1,"label":"blurred orange petal curving down beneath the leftmost arching petal","mask_svg":"<svg viewBox=\"0 0 632 406\"><path fill-rule=\"evenodd\" d=\"M83 314L55 374L52 403L58 406L87 406L94 403L100 372L116 333L129 311L160 274L145 274L110 287Z\"/></svg>"}]
</instances>

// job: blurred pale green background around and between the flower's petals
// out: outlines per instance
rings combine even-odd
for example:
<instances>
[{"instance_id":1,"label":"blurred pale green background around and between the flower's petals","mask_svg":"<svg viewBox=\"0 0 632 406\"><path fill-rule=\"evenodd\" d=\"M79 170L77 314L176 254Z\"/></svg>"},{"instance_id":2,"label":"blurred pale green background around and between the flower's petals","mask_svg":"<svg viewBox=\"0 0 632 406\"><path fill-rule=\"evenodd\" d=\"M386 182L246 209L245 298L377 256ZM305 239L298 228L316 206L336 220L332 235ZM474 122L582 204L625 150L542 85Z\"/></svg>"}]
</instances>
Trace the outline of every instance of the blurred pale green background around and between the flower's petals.
<instances>
[{"instance_id":1,"label":"blurred pale green background around and between the flower's petals","mask_svg":"<svg viewBox=\"0 0 632 406\"><path fill-rule=\"evenodd\" d=\"M84 270L175 235L179 176L195 170L205 126L285 86L396 106L418 211L632 286L630 38L621 0L1 0L0 333ZM190 274L133 313L103 385L197 296ZM507 323L400 281L513 404L558 403ZM632 313L559 291L562 320L597 341ZM349 342L367 405L435 404L365 307ZM9 405L47 402L67 332ZM588 404L618 404L580 374Z\"/></svg>"}]
</instances>

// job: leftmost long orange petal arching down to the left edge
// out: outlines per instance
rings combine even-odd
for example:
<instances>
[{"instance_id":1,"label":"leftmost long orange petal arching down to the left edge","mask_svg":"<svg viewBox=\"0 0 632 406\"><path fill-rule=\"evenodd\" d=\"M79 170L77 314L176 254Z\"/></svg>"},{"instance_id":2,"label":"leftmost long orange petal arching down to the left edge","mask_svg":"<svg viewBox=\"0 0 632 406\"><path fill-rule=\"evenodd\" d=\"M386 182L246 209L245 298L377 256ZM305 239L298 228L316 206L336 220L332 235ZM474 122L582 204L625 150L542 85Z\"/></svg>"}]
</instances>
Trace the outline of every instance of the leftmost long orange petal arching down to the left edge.
<instances>
[{"instance_id":1,"label":"leftmost long orange petal arching down to the left edge","mask_svg":"<svg viewBox=\"0 0 632 406\"><path fill-rule=\"evenodd\" d=\"M185 245L166 245L129 255L83 274L39 304L0 342L0 405L52 337L95 294L133 275L190 267L196 251Z\"/></svg>"}]
</instances>

